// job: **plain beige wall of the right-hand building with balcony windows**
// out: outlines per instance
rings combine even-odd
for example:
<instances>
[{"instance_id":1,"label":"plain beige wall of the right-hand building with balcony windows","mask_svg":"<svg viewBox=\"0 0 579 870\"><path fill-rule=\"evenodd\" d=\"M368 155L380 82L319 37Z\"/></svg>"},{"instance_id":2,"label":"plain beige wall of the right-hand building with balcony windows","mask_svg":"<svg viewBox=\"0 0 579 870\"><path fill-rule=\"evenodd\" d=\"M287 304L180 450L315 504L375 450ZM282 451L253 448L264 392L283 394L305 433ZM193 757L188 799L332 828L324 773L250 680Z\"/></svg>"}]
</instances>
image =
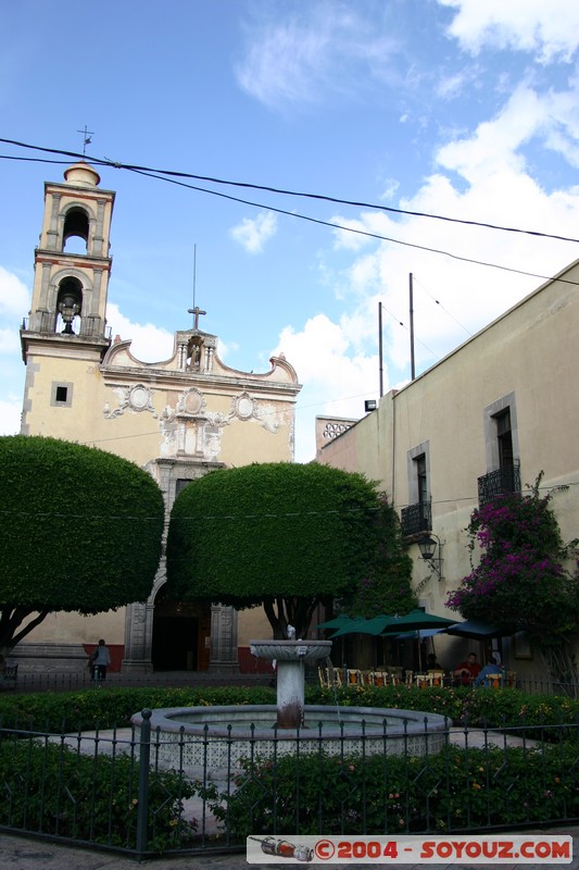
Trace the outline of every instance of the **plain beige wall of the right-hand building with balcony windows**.
<instances>
[{"instance_id":1,"label":"plain beige wall of the right-hand building with balcony windows","mask_svg":"<svg viewBox=\"0 0 579 870\"><path fill-rule=\"evenodd\" d=\"M427 445L432 531L442 542L439 581L411 545L414 584L430 612L461 617L445 607L470 568L466 526L478 507L478 477L489 467L486 409L513 396L516 458L525 490L544 471L545 492L564 540L579 529L579 265L571 264L414 382L382 397L379 408L333 440L319 445L318 461L378 480L397 509L417 501L411 492L408 451ZM430 575L430 579L428 579ZM436 638L442 664L451 667L473 642ZM475 647L477 645L475 644ZM520 673L537 662L516 660Z\"/></svg>"}]
</instances>

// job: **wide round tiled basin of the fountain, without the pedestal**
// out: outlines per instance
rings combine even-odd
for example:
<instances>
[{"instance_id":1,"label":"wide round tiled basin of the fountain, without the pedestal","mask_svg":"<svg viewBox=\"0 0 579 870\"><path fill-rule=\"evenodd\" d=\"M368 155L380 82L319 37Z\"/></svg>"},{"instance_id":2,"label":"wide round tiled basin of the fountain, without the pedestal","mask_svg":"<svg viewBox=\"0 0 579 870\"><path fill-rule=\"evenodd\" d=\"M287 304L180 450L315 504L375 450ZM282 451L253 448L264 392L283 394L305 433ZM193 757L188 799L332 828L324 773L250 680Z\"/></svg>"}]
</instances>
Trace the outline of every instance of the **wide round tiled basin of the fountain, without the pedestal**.
<instances>
[{"instance_id":1,"label":"wide round tiled basin of the fountain, without the pedestal","mask_svg":"<svg viewBox=\"0 0 579 870\"><path fill-rule=\"evenodd\" d=\"M437 753L452 724L436 713L374 707L307 705L305 717L307 728L277 729L274 705L156 709L151 717L152 751L164 767L225 780L241 770L243 758L289 755L298 743L301 754ZM141 714L131 721L140 731Z\"/></svg>"}]
</instances>

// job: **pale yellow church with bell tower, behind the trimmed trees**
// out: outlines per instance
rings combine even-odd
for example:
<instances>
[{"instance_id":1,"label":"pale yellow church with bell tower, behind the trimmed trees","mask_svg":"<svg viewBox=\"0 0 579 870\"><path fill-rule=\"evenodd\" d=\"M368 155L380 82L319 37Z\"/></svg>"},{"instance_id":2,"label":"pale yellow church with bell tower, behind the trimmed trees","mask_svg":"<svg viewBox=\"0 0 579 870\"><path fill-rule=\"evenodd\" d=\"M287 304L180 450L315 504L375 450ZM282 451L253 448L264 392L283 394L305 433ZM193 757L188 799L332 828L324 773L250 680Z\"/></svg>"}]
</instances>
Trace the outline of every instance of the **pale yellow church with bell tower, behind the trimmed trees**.
<instances>
[{"instance_id":1,"label":"pale yellow church with bell tower, behind the trimmed trees","mask_svg":"<svg viewBox=\"0 0 579 870\"><path fill-rule=\"evenodd\" d=\"M200 328L206 312L199 307L189 310L191 328L175 333L167 360L142 362L129 339L113 338L106 304L115 194L99 185L83 162L45 185L32 306L21 330L21 432L96 446L146 468L163 492L168 523L179 490L213 469L293 461L300 385L282 355L262 374L225 365L217 336ZM72 546L77 521L71 518ZM249 639L265 630L260 611L169 601L164 586L161 563L148 601L91 618L51 614L14 655L24 666L70 669L102 636L123 670L250 667Z\"/></svg>"}]
</instances>

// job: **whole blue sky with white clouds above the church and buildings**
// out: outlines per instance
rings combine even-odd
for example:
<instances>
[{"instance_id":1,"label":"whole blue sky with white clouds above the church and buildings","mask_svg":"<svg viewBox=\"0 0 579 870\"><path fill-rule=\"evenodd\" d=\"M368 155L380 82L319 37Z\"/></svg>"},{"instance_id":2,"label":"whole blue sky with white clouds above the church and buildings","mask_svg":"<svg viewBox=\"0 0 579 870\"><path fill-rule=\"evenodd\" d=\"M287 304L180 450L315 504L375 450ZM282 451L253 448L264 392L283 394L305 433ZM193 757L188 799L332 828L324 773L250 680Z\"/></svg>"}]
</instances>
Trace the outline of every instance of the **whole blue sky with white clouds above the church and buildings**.
<instances>
[{"instance_id":1,"label":"whole blue sky with white clouds above the church and buildings","mask_svg":"<svg viewBox=\"0 0 579 870\"><path fill-rule=\"evenodd\" d=\"M22 0L0 8L0 136L77 151L87 125L88 157L577 238L578 44L568 0ZM18 427L43 182L63 169L0 160L3 433ZM100 173L116 190L113 334L143 360L171 355L196 250L224 361L267 371L284 351L304 385L300 461L316 414L357 418L377 397L379 301L385 388L410 377L411 273L419 373L579 258L572 241Z\"/></svg>"}]
</instances>

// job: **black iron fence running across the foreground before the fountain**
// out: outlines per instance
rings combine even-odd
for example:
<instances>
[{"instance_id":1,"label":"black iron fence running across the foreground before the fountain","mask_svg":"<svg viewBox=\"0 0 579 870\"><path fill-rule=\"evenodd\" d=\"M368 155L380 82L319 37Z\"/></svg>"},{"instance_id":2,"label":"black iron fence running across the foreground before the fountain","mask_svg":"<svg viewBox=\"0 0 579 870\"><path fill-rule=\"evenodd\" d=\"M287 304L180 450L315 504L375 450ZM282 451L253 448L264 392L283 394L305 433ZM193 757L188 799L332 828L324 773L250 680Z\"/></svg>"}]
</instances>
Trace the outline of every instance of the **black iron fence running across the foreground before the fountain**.
<instances>
[{"instance_id":1,"label":"black iron fence running across the foreground before the fountain","mask_svg":"<svg viewBox=\"0 0 579 870\"><path fill-rule=\"evenodd\" d=\"M288 741L229 726L62 733L0 723L0 830L136 858L241 852L248 835L517 830L579 821L579 723Z\"/></svg>"}]
</instances>

